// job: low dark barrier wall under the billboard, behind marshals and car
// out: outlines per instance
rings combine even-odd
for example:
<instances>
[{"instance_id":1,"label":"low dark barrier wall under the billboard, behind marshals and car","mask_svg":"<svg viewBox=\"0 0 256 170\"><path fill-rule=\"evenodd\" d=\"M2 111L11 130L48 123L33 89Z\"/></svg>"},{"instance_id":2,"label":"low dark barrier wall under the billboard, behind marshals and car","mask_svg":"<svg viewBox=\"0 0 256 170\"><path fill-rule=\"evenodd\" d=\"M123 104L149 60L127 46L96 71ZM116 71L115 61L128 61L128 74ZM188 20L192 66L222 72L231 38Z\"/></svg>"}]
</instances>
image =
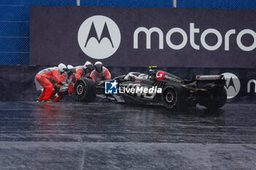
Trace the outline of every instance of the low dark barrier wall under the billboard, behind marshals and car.
<instances>
[{"instance_id":1,"label":"low dark barrier wall under the billboard, behind marshals and car","mask_svg":"<svg viewBox=\"0 0 256 170\"><path fill-rule=\"evenodd\" d=\"M36 90L34 77L37 72L51 66L4 65L0 66L0 101L35 101L40 94ZM107 66L112 77L128 72L146 73L147 67ZM159 67L182 79L191 79L199 74L225 74L227 92L233 98L227 103L256 104L256 69L212 69L212 68L178 68ZM237 95L236 95L237 93ZM236 95L236 96L235 96Z\"/></svg>"}]
</instances>

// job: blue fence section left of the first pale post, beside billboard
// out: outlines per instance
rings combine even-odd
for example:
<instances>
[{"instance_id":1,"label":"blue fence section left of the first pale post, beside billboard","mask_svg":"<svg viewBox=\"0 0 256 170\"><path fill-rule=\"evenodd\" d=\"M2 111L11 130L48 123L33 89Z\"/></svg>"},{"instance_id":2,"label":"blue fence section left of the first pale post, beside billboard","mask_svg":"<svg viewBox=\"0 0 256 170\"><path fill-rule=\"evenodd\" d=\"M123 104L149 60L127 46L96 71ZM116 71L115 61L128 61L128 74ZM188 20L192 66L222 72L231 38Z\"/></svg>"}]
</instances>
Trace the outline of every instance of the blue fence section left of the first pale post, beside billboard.
<instances>
[{"instance_id":1,"label":"blue fence section left of the first pale post, beside billboard","mask_svg":"<svg viewBox=\"0 0 256 170\"><path fill-rule=\"evenodd\" d=\"M76 0L0 0L0 64L29 64L29 5L77 5Z\"/></svg>"}]
</instances>

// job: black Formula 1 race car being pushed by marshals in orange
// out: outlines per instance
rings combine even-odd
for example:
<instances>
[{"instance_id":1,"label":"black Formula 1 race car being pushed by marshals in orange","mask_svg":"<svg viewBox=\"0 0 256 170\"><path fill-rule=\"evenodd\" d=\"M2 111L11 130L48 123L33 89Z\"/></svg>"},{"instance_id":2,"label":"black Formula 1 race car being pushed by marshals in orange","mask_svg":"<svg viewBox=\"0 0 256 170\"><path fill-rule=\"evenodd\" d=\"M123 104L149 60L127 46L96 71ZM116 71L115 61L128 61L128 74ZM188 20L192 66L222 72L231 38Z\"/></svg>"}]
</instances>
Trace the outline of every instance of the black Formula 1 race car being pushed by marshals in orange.
<instances>
[{"instance_id":1,"label":"black Formula 1 race car being pushed by marshals in orange","mask_svg":"<svg viewBox=\"0 0 256 170\"><path fill-rule=\"evenodd\" d=\"M105 84L116 87L116 94L106 94ZM227 100L223 75L197 75L191 80L181 80L173 74L148 70L147 74L129 72L113 80L98 82L89 78L80 78L75 83L75 98L78 101L92 101L95 95L107 98L118 97L122 102L135 104L163 105L167 109L184 108L200 104L208 109L218 109ZM110 87L110 88L113 88Z\"/></svg>"}]
</instances>

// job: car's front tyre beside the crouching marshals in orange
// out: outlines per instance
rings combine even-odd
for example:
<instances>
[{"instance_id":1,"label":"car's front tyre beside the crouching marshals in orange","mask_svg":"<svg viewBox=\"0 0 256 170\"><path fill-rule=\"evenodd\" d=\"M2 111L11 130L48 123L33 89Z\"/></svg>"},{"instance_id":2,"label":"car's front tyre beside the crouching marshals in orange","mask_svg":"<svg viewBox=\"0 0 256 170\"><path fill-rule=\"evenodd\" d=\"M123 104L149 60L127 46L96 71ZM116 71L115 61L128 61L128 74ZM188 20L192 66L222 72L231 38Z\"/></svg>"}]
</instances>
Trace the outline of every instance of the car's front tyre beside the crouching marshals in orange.
<instances>
[{"instance_id":1,"label":"car's front tyre beside the crouching marshals in orange","mask_svg":"<svg viewBox=\"0 0 256 170\"><path fill-rule=\"evenodd\" d=\"M80 78L75 82L74 94L77 101L93 101L95 98L95 83L88 78Z\"/></svg>"}]
</instances>

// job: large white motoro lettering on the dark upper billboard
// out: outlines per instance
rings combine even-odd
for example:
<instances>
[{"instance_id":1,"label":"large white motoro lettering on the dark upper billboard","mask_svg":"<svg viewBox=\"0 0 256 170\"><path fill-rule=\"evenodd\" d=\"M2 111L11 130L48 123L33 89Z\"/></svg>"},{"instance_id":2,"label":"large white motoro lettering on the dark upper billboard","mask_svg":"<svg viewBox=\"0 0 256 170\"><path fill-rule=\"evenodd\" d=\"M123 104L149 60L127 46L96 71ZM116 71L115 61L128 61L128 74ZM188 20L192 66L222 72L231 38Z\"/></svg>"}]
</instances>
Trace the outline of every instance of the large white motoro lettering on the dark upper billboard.
<instances>
[{"instance_id":1,"label":"large white motoro lettering on the dark upper billboard","mask_svg":"<svg viewBox=\"0 0 256 170\"><path fill-rule=\"evenodd\" d=\"M191 45L192 48L195 50L200 50L203 46L206 50L213 51L213 50L218 50L219 47L221 47L222 44L224 44L224 49L225 51L230 50L230 36L236 35L237 30L236 29L230 29L228 30L225 35L223 36L220 31L214 28L208 28L203 31L202 34L200 32L202 29L200 28L195 28L195 23L189 23L189 33L184 31L184 28L170 28L169 31L167 31L166 36L165 33L158 27L151 27L151 28L146 28L146 27L139 27L136 28L134 34L133 34L133 48L138 49L138 42L139 42L139 34L143 33L146 34L146 49L151 49L151 34L158 34L159 37L159 49L164 49L164 43L167 43L167 46L170 47L173 50L181 50L183 49L187 43ZM175 41L171 39L173 34L181 34L182 42L179 45L176 45ZM189 35L188 35L189 34ZM208 45L207 44L207 35L208 34L214 34L214 36L217 37L217 43L215 45ZM251 36L252 38L252 45L244 45L242 42L242 39L244 35L248 34L247 36ZM195 37L199 36L200 37L200 43L201 44L196 44L195 43ZM155 41L155 39L153 40ZM222 43L224 42L224 43ZM251 29L244 29L240 32L238 32L236 36L236 44L238 47L243 50L243 51L252 51L255 50L256 48L256 33L255 31Z\"/></svg>"}]
</instances>

